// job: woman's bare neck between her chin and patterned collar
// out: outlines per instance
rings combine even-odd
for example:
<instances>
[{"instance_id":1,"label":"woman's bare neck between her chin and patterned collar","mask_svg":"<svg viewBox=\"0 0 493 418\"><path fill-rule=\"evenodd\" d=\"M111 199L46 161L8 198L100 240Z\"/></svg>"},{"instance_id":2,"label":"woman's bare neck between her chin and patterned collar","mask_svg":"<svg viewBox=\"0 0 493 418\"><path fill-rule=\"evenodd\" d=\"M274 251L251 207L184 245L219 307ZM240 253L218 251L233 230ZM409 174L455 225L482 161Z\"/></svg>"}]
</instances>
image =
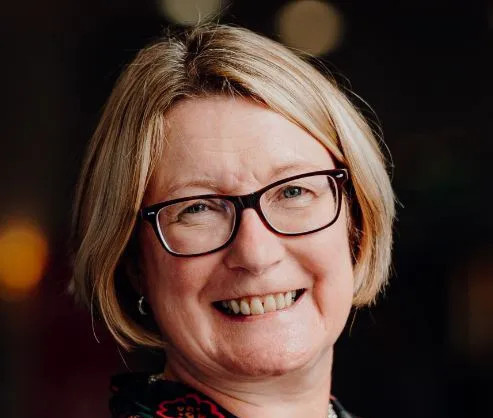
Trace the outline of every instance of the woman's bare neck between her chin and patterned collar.
<instances>
[{"instance_id":1,"label":"woman's bare neck between her chin and patterned collar","mask_svg":"<svg viewBox=\"0 0 493 418\"><path fill-rule=\"evenodd\" d=\"M165 378L183 382L243 417L327 417L333 350L313 364L281 376L223 378L204 373L173 351Z\"/></svg>"}]
</instances>

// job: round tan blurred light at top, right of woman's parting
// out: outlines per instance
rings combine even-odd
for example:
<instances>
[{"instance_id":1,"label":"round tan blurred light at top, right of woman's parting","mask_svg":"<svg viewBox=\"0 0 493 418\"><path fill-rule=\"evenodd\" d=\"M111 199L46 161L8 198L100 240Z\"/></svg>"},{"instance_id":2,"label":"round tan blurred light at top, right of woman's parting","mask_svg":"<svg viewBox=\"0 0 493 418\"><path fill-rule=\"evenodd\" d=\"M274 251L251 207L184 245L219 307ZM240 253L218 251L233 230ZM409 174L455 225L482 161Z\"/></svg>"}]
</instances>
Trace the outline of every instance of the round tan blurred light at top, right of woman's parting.
<instances>
[{"instance_id":1,"label":"round tan blurred light at top, right of woman's parting","mask_svg":"<svg viewBox=\"0 0 493 418\"><path fill-rule=\"evenodd\" d=\"M284 43L312 55L337 49L344 32L341 13L330 3L319 0L287 3L278 13L277 25Z\"/></svg>"}]
</instances>

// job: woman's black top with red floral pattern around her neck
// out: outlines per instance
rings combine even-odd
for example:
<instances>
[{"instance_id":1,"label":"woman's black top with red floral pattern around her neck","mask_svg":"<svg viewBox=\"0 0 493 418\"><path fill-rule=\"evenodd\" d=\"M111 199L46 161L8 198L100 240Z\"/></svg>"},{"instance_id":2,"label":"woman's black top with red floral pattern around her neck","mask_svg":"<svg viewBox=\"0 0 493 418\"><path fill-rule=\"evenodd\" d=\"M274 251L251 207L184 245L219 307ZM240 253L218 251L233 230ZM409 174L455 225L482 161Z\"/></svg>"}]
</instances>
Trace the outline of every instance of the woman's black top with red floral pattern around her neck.
<instances>
[{"instance_id":1,"label":"woman's black top with red floral pattern around her neck","mask_svg":"<svg viewBox=\"0 0 493 418\"><path fill-rule=\"evenodd\" d=\"M111 379L112 418L238 418L191 387L147 373L128 373ZM356 418L331 399L338 418Z\"/></svg>"}]
</instances>

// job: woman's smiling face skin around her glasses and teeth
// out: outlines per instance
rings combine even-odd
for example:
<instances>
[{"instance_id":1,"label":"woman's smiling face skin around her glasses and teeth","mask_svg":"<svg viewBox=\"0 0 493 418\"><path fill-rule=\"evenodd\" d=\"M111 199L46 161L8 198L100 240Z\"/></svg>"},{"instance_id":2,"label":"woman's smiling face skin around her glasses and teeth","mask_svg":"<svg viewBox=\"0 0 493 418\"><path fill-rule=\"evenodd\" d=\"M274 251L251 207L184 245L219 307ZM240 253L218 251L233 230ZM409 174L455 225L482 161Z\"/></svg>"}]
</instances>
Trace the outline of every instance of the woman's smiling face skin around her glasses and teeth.
<instances>
[{"instance_id":1,"label":"woman's smiling face skin around her glasses and teeth","mask_svg":"<svg viewBox=\"0 0 493 418\"><path fill-rule=\"evenodd\" d=\"M167 115L167 145L144 205L199 194L242 195L276 180L334 168L324 146L279 114L245 99L210 97L177 104ZM243 212L227 247L175 257L149 224L140 248L146 297L169 343L203 373L280 375L330 354L351 307L353 270L345 205L335 224L296 237L268 230ZM306 289L288 308L238 316L218 301Z\"/></svg>"}]
</instances>

